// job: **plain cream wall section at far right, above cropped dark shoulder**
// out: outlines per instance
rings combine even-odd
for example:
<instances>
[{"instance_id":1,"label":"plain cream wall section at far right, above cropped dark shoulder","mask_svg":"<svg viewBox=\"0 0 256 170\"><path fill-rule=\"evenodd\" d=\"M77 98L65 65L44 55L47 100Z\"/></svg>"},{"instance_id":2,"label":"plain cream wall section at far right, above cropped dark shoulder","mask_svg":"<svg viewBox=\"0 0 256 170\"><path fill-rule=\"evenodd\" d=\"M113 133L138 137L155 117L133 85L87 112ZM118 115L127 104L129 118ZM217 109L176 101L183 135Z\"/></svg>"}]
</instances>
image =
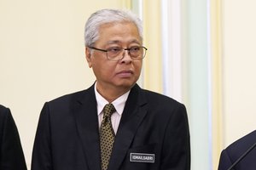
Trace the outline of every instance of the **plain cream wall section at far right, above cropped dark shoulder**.
<instances>
[{"instance_id":1,"label":"plain cream wall section at far right, above cropped dark shoulder","mask_svg":"<svg viewBox=\"0 0 256 170\"><path fill-rule=\"evenodd\" d=\"M224 147L256 129L256 1L223 1Z\"/></svg>"}]
</instances>

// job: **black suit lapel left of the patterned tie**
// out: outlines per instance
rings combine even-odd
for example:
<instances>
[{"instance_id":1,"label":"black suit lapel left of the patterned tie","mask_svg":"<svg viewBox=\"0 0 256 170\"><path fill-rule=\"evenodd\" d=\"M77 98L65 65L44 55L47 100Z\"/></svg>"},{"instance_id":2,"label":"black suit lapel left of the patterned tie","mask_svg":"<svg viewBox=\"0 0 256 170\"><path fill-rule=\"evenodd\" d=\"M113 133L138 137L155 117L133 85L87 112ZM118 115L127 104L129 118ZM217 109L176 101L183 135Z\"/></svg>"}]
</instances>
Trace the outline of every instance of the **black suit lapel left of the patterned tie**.
<instances>
[{"instance_id":1,"label":"black suit lapel left of the patterned tie","mask_svg":"<svg viewBox=\"0 0 256 170\"><path fill-rule=\"evenodd\" d=\"M86 90L78 102L79 109L76 111L75 116L79 138L84 148L84 156L91 170L101 170L99 127L94 86Z\"/></svg>"}]
</instances>

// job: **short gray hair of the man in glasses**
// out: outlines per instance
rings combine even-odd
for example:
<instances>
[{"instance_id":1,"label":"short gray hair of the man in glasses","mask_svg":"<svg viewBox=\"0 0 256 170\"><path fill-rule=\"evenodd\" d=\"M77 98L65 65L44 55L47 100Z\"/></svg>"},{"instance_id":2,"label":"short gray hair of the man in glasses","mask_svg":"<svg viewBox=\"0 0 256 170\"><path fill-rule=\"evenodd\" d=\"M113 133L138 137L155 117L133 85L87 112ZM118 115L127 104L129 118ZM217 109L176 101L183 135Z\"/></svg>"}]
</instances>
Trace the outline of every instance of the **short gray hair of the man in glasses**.
<instances>
[{"instance_id":1,"label":"short gray hair of the man in glasses","mask_svg":"<svg viewBox=\"0 0 256 170\"><path fill-rule=\"evenodd\" d=\"M136 14L133 14L128 10L106 8L91 14L90 18L87 20L84 28L85 46L91 46L98 40L100 26L124 21L134 23L137 26L140 37L143 40L142 20L140 20Z\"/></svg>"}]
</instances>

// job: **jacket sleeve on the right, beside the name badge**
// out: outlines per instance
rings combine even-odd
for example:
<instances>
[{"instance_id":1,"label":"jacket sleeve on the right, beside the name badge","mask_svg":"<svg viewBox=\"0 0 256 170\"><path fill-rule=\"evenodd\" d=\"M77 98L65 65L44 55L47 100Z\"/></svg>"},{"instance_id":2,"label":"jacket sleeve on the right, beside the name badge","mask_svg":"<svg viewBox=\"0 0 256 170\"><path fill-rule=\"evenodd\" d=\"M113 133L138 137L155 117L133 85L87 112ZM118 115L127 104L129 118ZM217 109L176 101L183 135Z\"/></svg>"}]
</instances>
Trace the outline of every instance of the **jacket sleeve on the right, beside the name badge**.
<instances>
[{"instance_id":1,"label":"jacket sleeve on the right, beside the name badge","mask_svg":"<svg viewBox=\"0 0 256 170\"><path fill-rule=\"evenodd\" d=\"M161 170L190 170L190 137L187 111L179 105L166 127Z\"/></svg>"}]
</instances>

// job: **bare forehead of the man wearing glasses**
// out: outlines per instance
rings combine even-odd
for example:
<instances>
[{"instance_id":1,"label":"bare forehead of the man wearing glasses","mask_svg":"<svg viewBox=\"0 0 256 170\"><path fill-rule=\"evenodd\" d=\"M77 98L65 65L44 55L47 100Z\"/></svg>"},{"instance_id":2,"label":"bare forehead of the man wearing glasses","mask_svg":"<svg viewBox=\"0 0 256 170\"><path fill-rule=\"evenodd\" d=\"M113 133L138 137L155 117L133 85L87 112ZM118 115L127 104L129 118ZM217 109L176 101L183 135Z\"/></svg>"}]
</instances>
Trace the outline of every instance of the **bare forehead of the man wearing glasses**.
<instances>
[{"instance_id":1,"label":"bare forehead of the man wearing glasses","mask_svg":"<svg viewBox=\"0 0 256 170\"><path fill-rule=\"evenodd\" d=\"M99 27L98 40L108 43L142 42L137 26L127 21L103 24Z\"/></svg>"}]
</instances>

